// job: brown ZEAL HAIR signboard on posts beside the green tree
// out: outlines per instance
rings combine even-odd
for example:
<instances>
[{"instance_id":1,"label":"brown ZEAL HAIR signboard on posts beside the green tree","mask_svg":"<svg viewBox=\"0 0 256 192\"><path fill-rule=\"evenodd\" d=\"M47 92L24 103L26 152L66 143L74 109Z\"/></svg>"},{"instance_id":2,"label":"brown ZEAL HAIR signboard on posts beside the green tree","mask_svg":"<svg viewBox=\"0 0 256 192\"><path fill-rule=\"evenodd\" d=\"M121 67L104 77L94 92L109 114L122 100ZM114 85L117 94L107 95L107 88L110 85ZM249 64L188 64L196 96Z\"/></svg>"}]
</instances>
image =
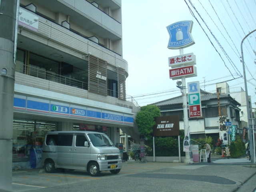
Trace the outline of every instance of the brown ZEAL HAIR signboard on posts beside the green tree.
<instances>
[{"instance_id":1,"label":"brown ZEAL HAIR signboard on posts beside the green tree","mask_svg":"<svg viewBox=\"0 0 256 192\"><path fill-rule=\"evenodd\" d=\"M178 136L180 134L179 116L160 116L153 126L153 136Z\"/></svg>"}]
</instances>

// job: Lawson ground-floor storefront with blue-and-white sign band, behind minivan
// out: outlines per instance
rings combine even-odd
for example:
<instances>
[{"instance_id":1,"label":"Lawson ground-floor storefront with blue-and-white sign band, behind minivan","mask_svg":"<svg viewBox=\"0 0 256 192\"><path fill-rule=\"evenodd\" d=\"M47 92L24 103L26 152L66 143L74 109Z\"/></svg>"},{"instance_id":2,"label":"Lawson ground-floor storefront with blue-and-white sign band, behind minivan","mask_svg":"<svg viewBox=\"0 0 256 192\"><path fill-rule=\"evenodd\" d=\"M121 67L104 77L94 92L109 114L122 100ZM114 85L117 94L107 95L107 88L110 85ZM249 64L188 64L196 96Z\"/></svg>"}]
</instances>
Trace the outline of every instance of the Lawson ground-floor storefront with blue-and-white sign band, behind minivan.
<instances>
[{"instance_id":1,"label":"Lawson ground-floor storefront with blue-and-white sign band, behind minivan","mask_svg":"<svg viewBox=\"0 0 256 192\"><path fill-rule=\"evenodd\" d=\"M30 168L30 151L41 148L48 131L104 132L116 145L120 128L132 126L128 108L86 99L74 103L14 94L13 168Z\"/></svg>"}]
</instances>

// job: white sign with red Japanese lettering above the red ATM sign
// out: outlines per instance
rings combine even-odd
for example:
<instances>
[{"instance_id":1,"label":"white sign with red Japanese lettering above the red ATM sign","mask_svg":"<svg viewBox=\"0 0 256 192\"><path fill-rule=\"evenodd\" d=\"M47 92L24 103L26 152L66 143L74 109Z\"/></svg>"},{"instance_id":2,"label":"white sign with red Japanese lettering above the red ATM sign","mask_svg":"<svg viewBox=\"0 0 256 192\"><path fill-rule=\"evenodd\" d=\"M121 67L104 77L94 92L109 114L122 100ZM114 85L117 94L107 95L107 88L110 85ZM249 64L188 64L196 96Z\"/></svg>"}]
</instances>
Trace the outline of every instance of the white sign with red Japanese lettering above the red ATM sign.
<instances>
[{"instance_id":1,"label":"white sign with red Japanese lettering above the red ATM sign","mask_svg":"<svg viewBox=\"0 0 256 192\"><path fill-rule=\"evenodd\" d=\"M196 56L193 53L168 57L169 67L175 68L183 64L184 66L196 64Z\"/></svg>"}]
</instances>

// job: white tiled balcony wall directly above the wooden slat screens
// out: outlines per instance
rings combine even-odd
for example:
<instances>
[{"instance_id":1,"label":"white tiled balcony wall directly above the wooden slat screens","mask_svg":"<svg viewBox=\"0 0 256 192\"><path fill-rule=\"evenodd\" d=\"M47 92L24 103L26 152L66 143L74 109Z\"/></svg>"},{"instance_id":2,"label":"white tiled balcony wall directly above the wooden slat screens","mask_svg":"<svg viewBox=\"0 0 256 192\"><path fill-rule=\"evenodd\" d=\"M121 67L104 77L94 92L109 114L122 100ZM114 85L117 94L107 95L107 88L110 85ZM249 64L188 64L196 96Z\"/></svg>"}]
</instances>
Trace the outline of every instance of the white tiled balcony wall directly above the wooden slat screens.
<instances>
[{"instance_id":1,"label":"white tiled balcony wall directly above the wooden slat screens","mask_svg":"<svg viewBox=\"0 0 256 192\"><path fill-rule=\"evenodd\" d=\"M128 76L128 63L122 56L45 18L39 17L39 21L38 33L23 29L21 34L78 58L83 58L83 55L92 52L94 56L106 60L108 64L120 66Z\"/></svg>"}]
</instances>

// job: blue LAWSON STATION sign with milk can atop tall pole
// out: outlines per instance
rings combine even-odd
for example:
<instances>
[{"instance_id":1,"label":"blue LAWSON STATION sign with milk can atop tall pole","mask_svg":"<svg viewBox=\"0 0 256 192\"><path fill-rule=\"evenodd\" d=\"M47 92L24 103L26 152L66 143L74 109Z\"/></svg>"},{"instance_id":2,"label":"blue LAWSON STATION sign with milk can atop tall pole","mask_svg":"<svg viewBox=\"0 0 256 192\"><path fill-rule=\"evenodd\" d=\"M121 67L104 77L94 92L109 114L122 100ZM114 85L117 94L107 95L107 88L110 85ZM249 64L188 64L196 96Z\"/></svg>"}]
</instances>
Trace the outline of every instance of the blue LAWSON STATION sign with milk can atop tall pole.
<instances>
[{"instance_id":1,"label":"blue LAWSON STATION sign with milk can atop tall pole","mask_svg":"<svg viewBox=\"0 0 256 192\"><path fill-rule=\"evenodd\" d=\"M180 21L167 26L170 34L168 49L186 48L195 44L191 35L193 21Z\"/></svg>"}]
</instances>

